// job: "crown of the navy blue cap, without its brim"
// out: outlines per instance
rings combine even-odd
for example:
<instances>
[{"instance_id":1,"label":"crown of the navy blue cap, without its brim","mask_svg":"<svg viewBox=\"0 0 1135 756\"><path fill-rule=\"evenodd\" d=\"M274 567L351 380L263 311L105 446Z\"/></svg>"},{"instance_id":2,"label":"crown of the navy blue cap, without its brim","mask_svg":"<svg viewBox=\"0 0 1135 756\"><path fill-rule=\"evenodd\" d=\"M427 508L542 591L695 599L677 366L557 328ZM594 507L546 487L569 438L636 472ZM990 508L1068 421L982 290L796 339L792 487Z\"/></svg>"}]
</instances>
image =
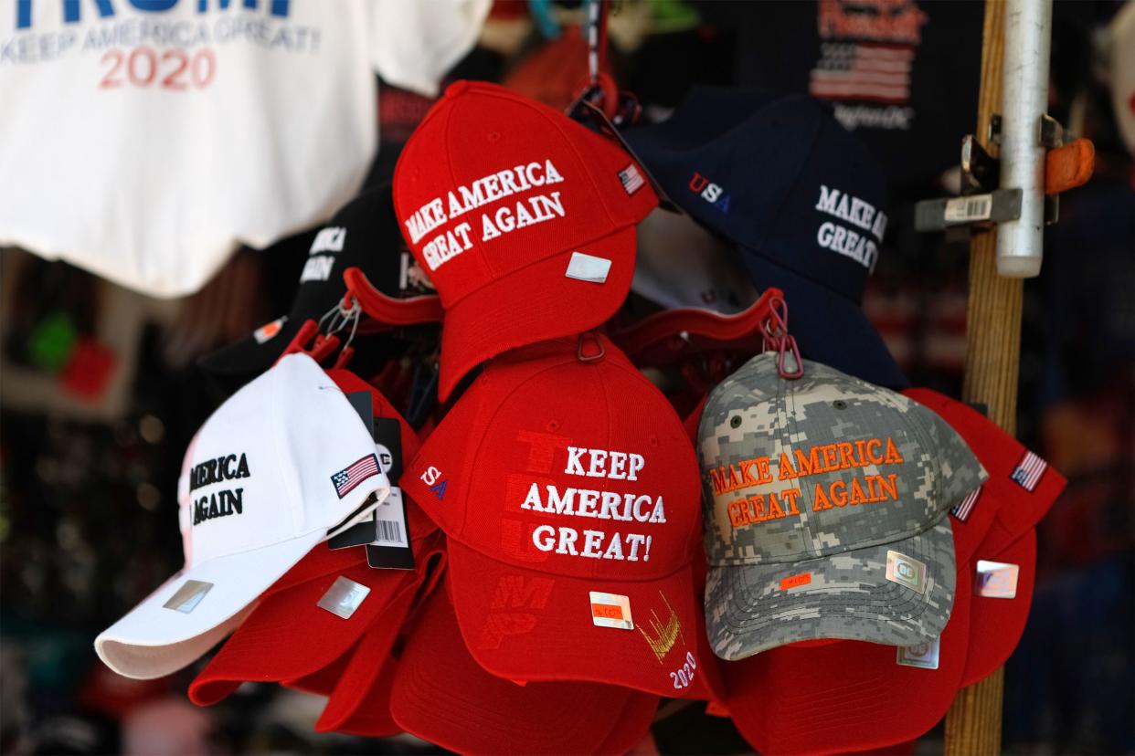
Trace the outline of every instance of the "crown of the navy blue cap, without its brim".
<instances>
[{"instance_id":1,"label":"crown of the navy blue cap, without its brim","mask_svg":"<svg viewBox=\"0 0 1135 756\"><path fill-rule=\"evenodd\" d=\"M669 121L625 136L670 198L703 224L863 299L886 229L886 178L810 97L698 87Z\"/></svg>"}]
</instances>

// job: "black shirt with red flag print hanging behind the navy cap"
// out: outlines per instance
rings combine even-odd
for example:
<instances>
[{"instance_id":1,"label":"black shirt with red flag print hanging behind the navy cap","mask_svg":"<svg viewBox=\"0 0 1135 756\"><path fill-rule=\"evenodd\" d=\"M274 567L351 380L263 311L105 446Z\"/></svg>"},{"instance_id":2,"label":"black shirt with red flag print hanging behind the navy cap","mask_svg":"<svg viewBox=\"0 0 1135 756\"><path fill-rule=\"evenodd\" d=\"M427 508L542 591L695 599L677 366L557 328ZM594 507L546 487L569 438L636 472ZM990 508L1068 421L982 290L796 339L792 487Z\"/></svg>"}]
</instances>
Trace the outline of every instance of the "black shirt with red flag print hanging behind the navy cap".
<instances>
[{"instance_id":1,"label":"black shirt with red flag print hanging behind the navy cap","mask_svg":"<svg viewBox=\"0 0 1135 756\"><path fill-rule=\"evenodd\" d=\"M886 170L892 196L957 165L981 84L981 2L707 3L738 34L737 80L826 102Z\"/></svg>"}]
</instances>

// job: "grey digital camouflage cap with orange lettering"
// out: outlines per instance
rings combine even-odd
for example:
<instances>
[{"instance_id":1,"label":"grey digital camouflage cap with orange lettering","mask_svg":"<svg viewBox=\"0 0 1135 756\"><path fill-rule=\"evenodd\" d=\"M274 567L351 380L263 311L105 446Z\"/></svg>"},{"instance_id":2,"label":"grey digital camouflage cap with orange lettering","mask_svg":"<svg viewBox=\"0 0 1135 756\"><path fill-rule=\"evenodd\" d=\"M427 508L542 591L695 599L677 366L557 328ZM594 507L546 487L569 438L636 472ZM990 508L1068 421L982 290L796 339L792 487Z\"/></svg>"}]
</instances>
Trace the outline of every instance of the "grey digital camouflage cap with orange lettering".
<instances>
[{"instance_id":1,"label":"grey digital camouflage cap with orange lettering","mask_svg":"<svg viewBox=\"0 0 1135 756\"><path fill-rule=\"evenodd\" d=\"M949 510L989 476L906 397L775 354L709 394L698 431L706 626L726 660L799 640L911 646L953 604Z\"/></svg>"}]
</instances>

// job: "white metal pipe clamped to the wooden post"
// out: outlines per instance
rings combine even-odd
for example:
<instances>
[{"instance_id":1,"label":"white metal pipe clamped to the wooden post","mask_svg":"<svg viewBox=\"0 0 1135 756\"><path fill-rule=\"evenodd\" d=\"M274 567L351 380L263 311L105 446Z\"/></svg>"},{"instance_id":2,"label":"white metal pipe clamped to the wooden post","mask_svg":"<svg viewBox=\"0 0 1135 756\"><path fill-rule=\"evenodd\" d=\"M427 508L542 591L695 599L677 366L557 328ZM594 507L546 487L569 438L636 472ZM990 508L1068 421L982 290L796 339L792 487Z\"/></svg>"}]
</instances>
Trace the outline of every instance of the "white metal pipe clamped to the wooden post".
<instances>
[{"instance_id":1,"label":"white metal pipe clamped to the wooden post","mask_svg":"<svg viewBox=\"0 0 1135 756\"><path fill-rule=\"evenodd\" d=\"M1044 152L1041 116L1049 102L1052 0L1004 0L1001 188L1022 189L1020 218L997 229L1001 275L1032 278L1044 252Z\"/></svg>"}]
</instances>

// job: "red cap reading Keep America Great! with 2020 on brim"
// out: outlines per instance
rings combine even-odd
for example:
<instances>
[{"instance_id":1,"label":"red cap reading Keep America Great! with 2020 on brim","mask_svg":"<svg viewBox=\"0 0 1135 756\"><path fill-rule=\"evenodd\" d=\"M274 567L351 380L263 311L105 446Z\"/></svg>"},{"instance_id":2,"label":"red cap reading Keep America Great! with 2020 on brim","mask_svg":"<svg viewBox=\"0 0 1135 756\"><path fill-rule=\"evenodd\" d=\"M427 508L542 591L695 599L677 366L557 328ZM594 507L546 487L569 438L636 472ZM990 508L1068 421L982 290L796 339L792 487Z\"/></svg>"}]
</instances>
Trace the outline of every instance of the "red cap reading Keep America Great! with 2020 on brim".
<instances>
[{"instance_id":1,"label":"red cap reading Keep America Great! with 2020 on brim","mask_svg":"<svg viewBox=\"0 0 1135 756\"><path fill-rule=\"evenodd\" d=\"M448 537L486 670L705 698L693 449L662 393L590 339L491 360L402 485Z\"/></svg>"}]
</instances>

